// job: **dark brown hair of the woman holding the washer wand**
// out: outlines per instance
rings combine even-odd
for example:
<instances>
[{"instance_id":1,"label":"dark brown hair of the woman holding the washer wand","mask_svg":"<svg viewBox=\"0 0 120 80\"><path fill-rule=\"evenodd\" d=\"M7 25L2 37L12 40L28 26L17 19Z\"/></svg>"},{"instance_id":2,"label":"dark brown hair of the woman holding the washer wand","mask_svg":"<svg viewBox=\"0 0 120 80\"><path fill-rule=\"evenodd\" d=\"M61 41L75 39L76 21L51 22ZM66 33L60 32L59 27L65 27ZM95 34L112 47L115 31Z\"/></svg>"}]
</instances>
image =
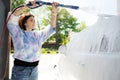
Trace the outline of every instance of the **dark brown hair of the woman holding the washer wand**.
<instances>
[{"instance_id":1,"label":"dark brown hair of the woman holding the washer wand","mask_svg":"<svg viewBox=\"0 0 120 80\"><path fill-rule=\"evenodd\" d=\"M32 14L26 14L26 15L20 16L18 24L19 24L19 26L20 26L21 29L26 30L25 23L27 22L27 20L30 17L34 17L34 15L32 15Z\"/></svg>"}]
</instances>

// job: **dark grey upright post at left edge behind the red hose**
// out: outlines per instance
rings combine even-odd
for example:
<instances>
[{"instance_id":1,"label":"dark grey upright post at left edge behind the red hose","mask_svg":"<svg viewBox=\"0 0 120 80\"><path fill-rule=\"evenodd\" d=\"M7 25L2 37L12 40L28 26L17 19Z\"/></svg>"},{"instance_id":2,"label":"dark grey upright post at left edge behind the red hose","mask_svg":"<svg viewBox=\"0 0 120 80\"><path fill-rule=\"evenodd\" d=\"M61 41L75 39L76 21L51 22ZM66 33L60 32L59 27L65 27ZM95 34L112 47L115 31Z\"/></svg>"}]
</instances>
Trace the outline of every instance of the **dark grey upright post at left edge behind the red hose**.
<instances>
[{"instance_id":1,"label":"dark grey upright post at left edge behind the red hose","mask_svg":"<svg viewBox=\"0 0 120 80\"><path fill-rule=\"evenodd\" d=\"M10 0L0 0L0 40L2 38L3 27L7 18L8 11L10 10ZM6 76L5 80L9 80L9 66L6 66L8 63L8 30L4 34L4 38L0 44L0 80L3 80L3 77ZM7 60L7 61L6 61ZM7 68L6 68L7 67ZM6 70L7 69L7 70Z\"/></svg>"}]
</instances>

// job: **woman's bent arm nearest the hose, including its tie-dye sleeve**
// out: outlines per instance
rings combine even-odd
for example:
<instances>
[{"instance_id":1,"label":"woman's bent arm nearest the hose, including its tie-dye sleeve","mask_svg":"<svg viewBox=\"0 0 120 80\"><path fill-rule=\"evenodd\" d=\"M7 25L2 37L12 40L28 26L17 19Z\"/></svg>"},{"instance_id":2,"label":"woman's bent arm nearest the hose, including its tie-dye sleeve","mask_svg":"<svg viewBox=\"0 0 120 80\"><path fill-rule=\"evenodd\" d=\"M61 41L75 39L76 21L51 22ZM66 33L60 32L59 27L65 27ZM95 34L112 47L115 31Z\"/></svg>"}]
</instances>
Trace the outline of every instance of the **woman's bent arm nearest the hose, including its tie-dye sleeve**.
<instances>
[{"instance_id":1,"label":"woman's bent arm nearest the hose, including its tie-dye sleeve","mask_svg":"<svg viewBox=\"0 0 120 80\"><path fill-rule=\"evenodd\" d=\"M16 9L8 21L7 27L13 37L21 32L21 29L18 25L19 15L23 13L23 11L25 11L26 9L28 9L28 7L26 6ZM11 12L9 12L8 17L10 16L10 14Z\"/></svg>"}]
</instances>

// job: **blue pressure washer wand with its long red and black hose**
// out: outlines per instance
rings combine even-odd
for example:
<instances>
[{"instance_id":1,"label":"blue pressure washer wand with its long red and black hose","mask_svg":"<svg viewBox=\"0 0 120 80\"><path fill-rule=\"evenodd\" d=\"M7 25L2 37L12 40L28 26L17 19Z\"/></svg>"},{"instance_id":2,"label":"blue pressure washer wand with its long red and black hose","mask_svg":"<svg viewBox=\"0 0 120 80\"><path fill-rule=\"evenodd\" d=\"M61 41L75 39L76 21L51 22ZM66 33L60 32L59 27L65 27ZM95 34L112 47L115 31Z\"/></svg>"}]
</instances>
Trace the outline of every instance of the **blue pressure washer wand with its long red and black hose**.
<instances>
[{"instance_id":1,"label":"blue pressure washer wand with its long red and black hose","mask_svg":"<svg viewBox=\"0 0 120 80\"><path fill-rule=\"evenodd\" d=\"M11 17L11 15L15 12L16 9L20 8L20 7L23 7L23 6L28 6L30 9L35 9L35 8L38 8L42 5L52 5L51 2L44 2L44 1L36 1L36 6L32 6L31 2L29 2L28 4L26 5L21 5L21 6L18 6L17 8L15 8L12 13L8 16L7 20L6 20L6 23L4 25L4 28L3 28L3 32L2 32L2 37L0 39L0 47L2 46L2 41L4 39L4 35L5 35L5 32L6 32L6 29L7 29L7 24L8 24L8 21ZM66 7L66 8L71 8L71 9L79 9L78 6L73 6L73 5L64 5L64 4L58 4L58 7ZM7 55L8 55L8 52L9 51L9 43L8 43L8 49L7 49ZM7 56L8 57L8 56ZM3 75L3 80L5 80L5 77L6 77L6 74L7 74L7 69L8 69L8 58L6 58L6 67L5 67L5 72L4 72L4 75Z\"/></svg>"}]
</instances>

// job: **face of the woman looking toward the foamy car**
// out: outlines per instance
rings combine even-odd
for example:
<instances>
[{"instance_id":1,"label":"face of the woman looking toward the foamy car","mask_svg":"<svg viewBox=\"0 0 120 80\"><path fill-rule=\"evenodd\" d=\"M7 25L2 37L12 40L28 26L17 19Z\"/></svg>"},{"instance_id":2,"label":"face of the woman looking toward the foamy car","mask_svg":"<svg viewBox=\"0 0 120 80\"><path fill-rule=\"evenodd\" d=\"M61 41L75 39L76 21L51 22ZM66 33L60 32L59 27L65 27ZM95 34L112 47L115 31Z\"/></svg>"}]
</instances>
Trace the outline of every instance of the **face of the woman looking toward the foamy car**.
<instances>
[{"instance_id":1,"label":"face of the woman looking toward the foamy car","mask_svg":"<svg viewBox=\"0 0 120 80\"><path fill-rule=\"evenodd\" d=\"M25 26L27 31L32 31L33 29L35 29L35 19L33 16L27 19Z\"/></svg>"}]
</instances>

